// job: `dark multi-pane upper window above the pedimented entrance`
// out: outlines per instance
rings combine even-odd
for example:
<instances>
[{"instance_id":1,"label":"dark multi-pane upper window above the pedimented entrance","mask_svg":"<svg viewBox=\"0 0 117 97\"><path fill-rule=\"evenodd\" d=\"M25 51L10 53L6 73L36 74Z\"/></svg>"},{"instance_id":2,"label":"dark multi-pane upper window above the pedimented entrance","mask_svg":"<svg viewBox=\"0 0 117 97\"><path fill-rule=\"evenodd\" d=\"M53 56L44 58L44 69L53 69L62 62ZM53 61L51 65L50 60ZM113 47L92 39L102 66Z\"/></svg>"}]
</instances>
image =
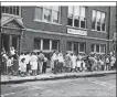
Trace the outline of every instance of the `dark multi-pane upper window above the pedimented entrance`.
<instances>
[{"instance_id":1,"label":"dark multi-pane upper window above the pedimented entrance","mask_svg":"<svg viewBox=\"0 0 117 97\"><path fill-rule=\"evenodd\" d=\"M17 6L3 6L1 7L1 13L9 13L20 15L20 7Z\"/></svg>"}]
</instances>

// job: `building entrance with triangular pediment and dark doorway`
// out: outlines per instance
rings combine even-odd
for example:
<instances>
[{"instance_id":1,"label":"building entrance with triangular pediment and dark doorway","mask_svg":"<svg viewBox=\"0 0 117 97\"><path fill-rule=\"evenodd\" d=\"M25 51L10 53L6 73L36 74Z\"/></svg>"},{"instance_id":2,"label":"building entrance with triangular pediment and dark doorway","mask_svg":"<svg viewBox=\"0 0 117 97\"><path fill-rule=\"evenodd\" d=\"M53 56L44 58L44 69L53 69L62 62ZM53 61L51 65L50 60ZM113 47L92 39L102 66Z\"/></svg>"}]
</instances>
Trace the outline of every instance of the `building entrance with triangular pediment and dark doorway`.
<instances>
[{"instance_id":1,"label":"building entrance with triangular pediment and dark doorway","mask_svg":"<svg viewBox=\"0 0 117 97\"><path fill-rule=\"evenodd\" d=\"M1 48L6 52L13 46L19 53L21 50L21 36L24 31L23 21L21 18L2 15L1 18Z\"/></svg>"}]
</instances>

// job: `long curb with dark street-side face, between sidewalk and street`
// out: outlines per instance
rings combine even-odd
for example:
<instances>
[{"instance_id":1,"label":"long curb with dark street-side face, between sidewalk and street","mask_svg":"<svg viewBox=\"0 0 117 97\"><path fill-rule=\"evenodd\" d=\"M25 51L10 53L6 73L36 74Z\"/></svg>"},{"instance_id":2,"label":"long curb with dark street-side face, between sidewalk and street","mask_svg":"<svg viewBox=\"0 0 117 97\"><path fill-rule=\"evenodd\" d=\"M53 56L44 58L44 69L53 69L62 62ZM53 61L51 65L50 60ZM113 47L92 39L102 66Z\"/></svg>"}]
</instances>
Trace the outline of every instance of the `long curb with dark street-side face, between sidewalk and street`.
<instances>
[{"instance_id":1,"label":"long curb with dark street-side face, between sidewalk and street","mask_svg":"<svg viewBox=\"0 0 117 97\"><path fill-rule=\"evenodd\" d=\"M108 74L117 74L116 71L113 72L100 72L100 73L85 73L85 74L66 74L66 75L53 75L53 76L49 76L49 77L33 77L30 79L14 79L14 80L2 80L0 82L0 84L21 84L21 83L25 83L25 82L36 82L36 80L55 80L55 79L65 79L65 78L81 78L81 77L100 77L100 76L106 76Z\"/></svg>"}]
</instances>

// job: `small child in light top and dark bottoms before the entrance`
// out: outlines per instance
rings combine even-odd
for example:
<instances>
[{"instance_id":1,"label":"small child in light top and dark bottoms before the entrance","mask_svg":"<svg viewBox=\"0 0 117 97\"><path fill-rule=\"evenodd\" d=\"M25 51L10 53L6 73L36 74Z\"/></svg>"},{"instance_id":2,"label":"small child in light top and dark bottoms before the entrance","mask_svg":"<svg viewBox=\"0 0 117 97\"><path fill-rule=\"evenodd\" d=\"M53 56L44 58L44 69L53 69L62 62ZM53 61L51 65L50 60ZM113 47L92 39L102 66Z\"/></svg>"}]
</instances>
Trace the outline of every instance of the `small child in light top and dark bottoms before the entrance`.
<instances>
[{"instance_id":1,"label":"small child in light top and dark bottoms before the entrance","mask_svg":"<svg viewBox=\"0 0 117 97\"><path fill-rule=\"evenodd\" d=\"M8 68L8 77L9 77L9 79L11 78L10 75L13 73L12 65L13 65L13 57L12 56L9 56L8 62L7 62L7 68Z\"/></svg>"}]
</instances>

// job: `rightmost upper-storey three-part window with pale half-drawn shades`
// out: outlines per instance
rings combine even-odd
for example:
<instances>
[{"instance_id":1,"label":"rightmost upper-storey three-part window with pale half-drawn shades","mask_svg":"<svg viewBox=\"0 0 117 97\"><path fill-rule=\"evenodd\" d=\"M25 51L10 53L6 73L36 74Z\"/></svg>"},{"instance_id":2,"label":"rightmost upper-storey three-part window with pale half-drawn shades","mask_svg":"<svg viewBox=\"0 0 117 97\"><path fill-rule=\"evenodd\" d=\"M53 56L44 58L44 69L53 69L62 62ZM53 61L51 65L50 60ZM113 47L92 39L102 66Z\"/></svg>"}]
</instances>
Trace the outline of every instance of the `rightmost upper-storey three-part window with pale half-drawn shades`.
<instances>
[{"instance_id":1,"label":"rightmost upper-storey three-part window with pale half-drawn shades","mask_svg":"<svg viewBox=\"0 0 117 97\"><path fill-rule=\"evenodd\" d=\"M106 13L93 10L92 29L97 31L106 31Z\"/></svg>"}]
</instances>

